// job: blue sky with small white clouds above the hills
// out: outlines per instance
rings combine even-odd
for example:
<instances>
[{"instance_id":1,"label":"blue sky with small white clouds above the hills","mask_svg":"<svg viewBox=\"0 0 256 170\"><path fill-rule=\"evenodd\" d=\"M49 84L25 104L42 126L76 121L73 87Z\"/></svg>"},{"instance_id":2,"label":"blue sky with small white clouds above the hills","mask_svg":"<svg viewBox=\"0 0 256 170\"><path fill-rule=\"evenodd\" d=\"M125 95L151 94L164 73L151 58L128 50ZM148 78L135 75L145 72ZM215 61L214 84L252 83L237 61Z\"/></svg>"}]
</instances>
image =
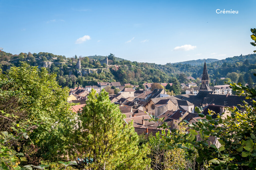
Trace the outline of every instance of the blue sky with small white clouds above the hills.
<instances>
[{"instance_id":1,"label":"blue sky with small white clouds above the hills","mask_svg":"<svg viewBox=\"0 0 256 170\"><path fill-rule=\"evenodd\" d=\"M253 53L254 15L255 1L0 0L0 47L157 64L223 59Z\"/></svg>"}]
</instances>

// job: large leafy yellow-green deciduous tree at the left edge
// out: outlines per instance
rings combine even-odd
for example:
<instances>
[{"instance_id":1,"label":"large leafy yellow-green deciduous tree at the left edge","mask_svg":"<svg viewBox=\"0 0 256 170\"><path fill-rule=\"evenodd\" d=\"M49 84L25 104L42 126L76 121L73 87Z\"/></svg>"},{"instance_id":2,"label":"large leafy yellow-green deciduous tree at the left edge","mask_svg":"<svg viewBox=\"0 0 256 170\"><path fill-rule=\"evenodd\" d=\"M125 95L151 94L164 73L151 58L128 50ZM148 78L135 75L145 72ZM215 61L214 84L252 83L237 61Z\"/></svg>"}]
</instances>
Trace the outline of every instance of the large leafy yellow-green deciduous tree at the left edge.
<instances>
[{"instance_id":1,"label":"large leafy yellow-green deciduous tree at the left edge","mask_svg":"<svg viewBox=\"0 0 256 170\"><path fill-rule=\"evenodd\" d=\"M49 74L46 68L38 69L24 62L20 67L11 67L5 75L1 73L0 84L0 109L10 115L15 113L15 116L19 116L17 123L24 125L24 120L38 120L41 116L49 119L49 123L30 133L31 141L40 149L37 154L58 154L58 151L53 149L62 140L62 137L57 135L58 128L70 124L74 118L67 102L69 89L61 88L56 81L56 74ZM3 116L3 113L0 115ZM11 123L12 121L9 121L9 124ZM30 144L29 141L23 141L14 145L15 151L23 151L24 146Z\"/></svg>"}]
</instances>

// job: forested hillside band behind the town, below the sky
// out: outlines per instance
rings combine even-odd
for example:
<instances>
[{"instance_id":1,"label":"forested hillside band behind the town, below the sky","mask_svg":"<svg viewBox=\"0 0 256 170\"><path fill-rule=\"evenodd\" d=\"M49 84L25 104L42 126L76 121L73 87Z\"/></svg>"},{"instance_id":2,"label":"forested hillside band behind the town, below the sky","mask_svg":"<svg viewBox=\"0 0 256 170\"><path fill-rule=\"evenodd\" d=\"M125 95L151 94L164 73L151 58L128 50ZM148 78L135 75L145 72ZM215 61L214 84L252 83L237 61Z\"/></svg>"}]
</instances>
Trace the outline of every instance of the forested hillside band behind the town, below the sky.
<instances>
[{"instance_id":1,"label":"forested hillside band behind the town, below the sky","mask_svg":"<svg viewBox=\"0 0 256 170\"><path fill-rule=\"evenodd\" d=\"M39 52L38 54L23 53L12 55L4 51L0 51L0 64L2 71L8 71L10 66L20 66L21 62L27 62L31 66L47 67L48 71L57 75L59 84L64 87L70 88L79 85L83 87L86 85L97 84L97 81L101 82L113 82L120 81L121 84L131 83L138 85L144 82L157 82L172 83L173 78L177 78L179 83L196 82L200 85L200 77L203 71L203 63L200 65L190 65L188 63L167 63L165 65L136 62L123 60L115 57L113 54L108 56L109 67L106 68L105 63L99 62L99 60L105 59L105 56L89 56L82 57L81 68L86 70L94 68L93 72L77 70L76 63L78 57L65 57L61 55L54 55L48 52ZM93 61L98 59L98 61ZM118 66L116 66L118 65ZM256 82L256 77L253 73L256 73L256 54L240 55L235 57L226 58L219 61L207 63L208 74L211 82L211 86L221 85L224 81L252 84L252 81ZM187 77L193 77L196 80ZM252 77L252 80L251 78ZM198 78L198 79L197 79ZM222 80L220 78L226 78ZM243 80L241 80L243 78ZM216 80L216 84L213 84Z\"/></svg>"}]
</instances>

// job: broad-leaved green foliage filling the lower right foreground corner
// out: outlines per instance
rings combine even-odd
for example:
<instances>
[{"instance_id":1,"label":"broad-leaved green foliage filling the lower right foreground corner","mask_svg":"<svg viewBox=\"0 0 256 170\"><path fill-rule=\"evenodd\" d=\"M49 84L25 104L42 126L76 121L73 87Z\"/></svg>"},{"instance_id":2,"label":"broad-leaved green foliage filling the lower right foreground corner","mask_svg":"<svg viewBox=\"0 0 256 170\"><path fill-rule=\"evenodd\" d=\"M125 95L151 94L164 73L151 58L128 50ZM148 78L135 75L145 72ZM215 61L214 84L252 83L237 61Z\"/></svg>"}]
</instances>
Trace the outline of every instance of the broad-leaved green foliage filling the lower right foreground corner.
<instances>
[{"instance_id":1,"label":"broad-leaved green foliage filling the lower right foreground corner","mask_svg":"<svg viewBox=\"0 0 256 170\"><path fill-rule=\"evenodd\" d=\"M209 114L204 115L201 113L202 107L196 107L195 110L202 119L193 124L183 120L188 123L190 134L181 135L179 131L172 130L168 138L164 137L167 143L165 148L172 150L178 147L189 154L198 153L199 157L196 161L206 162L207 167L211 169L255 169L256 101L253 99L256 97L256 92L241 83L230 83L230 85L237 95L245 95L252 101L249 104L243 101L243 106L226 108L231 113L231 116L227 117L217 114L217 118L212 118L215 112L208 111ZM159 121L155 118L152 120ZM162 127L168 126L165 124ZM202 140L196 140L195 135L198 134ZM209 145L207 142L209 136L215 136L221 146L218 148L215 144ZM184 147L183 144L186 143L192 144L195 149Z\"/></svg>"}]
</instances>

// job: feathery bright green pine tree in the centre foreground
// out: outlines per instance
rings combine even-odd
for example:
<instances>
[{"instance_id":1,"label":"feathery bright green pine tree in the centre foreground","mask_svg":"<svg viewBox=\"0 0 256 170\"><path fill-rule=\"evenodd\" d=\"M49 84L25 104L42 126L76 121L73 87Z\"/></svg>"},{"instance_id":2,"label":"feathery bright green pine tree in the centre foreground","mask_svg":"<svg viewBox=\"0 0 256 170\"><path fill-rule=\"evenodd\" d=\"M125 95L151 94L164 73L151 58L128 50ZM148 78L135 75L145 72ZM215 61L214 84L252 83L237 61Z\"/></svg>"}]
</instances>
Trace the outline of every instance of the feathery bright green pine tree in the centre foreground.
<instances>
[{"instance_id":1,"label":"feathery bright green pine tree in the centre foreground","mask_svg":"<svg viewBox=\"0 0 256 170\"><path fill-rule=\"evenodd\" d=\"M89 164L81 163L85 169L144 169L148 164L146 148L138 146L133 125L126 124L124 118L104 89L99 94L92 89L77 125L67 133L69 158L88 158Z\"/></svg>"}]
</instances>

